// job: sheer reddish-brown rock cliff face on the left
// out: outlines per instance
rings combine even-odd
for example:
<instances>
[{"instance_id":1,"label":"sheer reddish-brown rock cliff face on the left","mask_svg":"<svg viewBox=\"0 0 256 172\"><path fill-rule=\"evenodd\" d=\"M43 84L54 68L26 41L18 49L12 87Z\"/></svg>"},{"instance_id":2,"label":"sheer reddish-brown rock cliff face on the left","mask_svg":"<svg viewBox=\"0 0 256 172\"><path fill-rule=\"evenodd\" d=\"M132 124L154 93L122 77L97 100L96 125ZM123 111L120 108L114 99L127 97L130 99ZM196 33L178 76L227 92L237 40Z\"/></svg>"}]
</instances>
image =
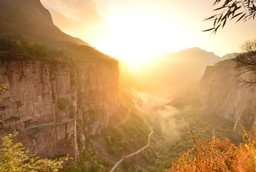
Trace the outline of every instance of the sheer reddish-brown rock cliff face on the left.
<instances>
[{"instance_id":1,"label":"sheer reddish-brown rock cliff face on the left","mask_svg":"<svg viewBox=\"0 0 256 172\"><path fill-rule=\"evenodd\" d=\"M84 139L100 133L118 112L118 75L115 60L78 65L0 61L0 83L7 84L0 137L18 131L18 141L33 154L69 154L76 160Z\"/></svg>"}]
</instances>

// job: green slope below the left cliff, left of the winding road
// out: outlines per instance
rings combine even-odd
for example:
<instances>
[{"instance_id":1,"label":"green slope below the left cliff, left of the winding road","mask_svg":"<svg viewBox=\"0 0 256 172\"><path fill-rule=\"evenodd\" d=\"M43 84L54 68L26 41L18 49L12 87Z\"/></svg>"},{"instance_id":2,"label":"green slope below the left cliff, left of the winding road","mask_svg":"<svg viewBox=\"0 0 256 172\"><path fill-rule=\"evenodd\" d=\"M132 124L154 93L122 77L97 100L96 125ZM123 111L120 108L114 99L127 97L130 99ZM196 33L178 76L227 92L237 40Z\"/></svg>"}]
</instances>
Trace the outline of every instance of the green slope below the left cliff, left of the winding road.
<instances>
[{"instance_id":1,"label":"green slope below the left cliff, left of the winding road","mask_svg":"<svg viewBox=\"0 0 256 172\"><path fill-rule=\"evenodd\" d=\"M121 158L147 145L149 128L144 121L141 115L121 103L119 114L110 118L110 124L101 135L87 138L79 161L69 163L63 171L109 172L113 163L107 157ZM136 161L136 156L131 157L124 161L122 168L128 169L136 165Z\"/></svg>"}]
</instances>

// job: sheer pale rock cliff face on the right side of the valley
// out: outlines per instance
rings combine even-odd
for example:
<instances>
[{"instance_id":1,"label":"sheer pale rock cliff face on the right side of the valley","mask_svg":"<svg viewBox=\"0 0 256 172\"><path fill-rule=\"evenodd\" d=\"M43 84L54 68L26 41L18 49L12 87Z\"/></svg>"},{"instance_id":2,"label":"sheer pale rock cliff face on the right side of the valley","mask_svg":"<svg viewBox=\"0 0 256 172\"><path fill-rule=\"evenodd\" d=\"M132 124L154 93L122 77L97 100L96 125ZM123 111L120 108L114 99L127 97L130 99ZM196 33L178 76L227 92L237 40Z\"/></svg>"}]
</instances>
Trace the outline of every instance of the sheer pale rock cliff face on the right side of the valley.
<instances>
[{"instance_id":1,"label":"sheer pale rock cliff face on the right side of the valley","mask_svg":"<svg viewBox=\"0 0 256 172\"><path fill-rule=\"evenodd\" d=\"M251 130L256 122L256 87L241 87L237 79L251 77L245 73L236 78L233 65L207 66L200 82L200 96L202 102L202 115L215 113L227 120L235 122L233 137L241 137L242 124Z\"/></svg>"}]
</instances>

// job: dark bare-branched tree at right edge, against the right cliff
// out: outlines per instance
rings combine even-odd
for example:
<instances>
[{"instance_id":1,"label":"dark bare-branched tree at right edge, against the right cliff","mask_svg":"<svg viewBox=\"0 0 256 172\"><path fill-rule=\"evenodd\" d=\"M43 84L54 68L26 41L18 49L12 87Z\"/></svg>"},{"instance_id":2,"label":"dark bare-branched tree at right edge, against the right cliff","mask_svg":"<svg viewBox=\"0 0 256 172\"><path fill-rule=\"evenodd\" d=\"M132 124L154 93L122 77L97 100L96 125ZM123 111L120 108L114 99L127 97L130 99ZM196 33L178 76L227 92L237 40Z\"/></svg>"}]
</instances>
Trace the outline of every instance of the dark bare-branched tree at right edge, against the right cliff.
<instances>
[{"instance_id":1,"label":"dark bare-branched tree at right edge, against the right cliff","mask_svg":"<svg viewBox=\"0 0 256 172\"><path fill-rule=\"evenodd\" d=\"M248 80L238 80L242 86L254 87L256 85L256 39L247 40L240 47L242 53L236 54L233 61L236 62L236 70L238 71L236 76L240 76L243 73L250 73L251 78Z\"/></svg>"}]
</instances>

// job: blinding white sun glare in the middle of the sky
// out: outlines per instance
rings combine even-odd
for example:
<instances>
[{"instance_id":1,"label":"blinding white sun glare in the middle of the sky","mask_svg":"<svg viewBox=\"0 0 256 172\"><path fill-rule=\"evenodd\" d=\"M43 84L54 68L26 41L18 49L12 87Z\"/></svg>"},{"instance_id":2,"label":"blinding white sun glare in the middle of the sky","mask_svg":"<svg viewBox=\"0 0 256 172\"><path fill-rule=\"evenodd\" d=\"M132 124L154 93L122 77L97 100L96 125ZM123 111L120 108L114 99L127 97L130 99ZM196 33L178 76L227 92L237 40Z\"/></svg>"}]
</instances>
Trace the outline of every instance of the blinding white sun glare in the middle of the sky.
<instances>
[{"instance_id":1,"label":"blinding white sun glare in the middle of the sky","mask_svg":"<svg viewBox=\"0 0 256 172\"><path fill-rule=\"evenodd\" d=\"M166 50L173 52L187 47L182 27L172 18L147 12L110 13L105 16L108 33L93 46L98 50L138 65Z\"/></svg>"}]
</instances>

